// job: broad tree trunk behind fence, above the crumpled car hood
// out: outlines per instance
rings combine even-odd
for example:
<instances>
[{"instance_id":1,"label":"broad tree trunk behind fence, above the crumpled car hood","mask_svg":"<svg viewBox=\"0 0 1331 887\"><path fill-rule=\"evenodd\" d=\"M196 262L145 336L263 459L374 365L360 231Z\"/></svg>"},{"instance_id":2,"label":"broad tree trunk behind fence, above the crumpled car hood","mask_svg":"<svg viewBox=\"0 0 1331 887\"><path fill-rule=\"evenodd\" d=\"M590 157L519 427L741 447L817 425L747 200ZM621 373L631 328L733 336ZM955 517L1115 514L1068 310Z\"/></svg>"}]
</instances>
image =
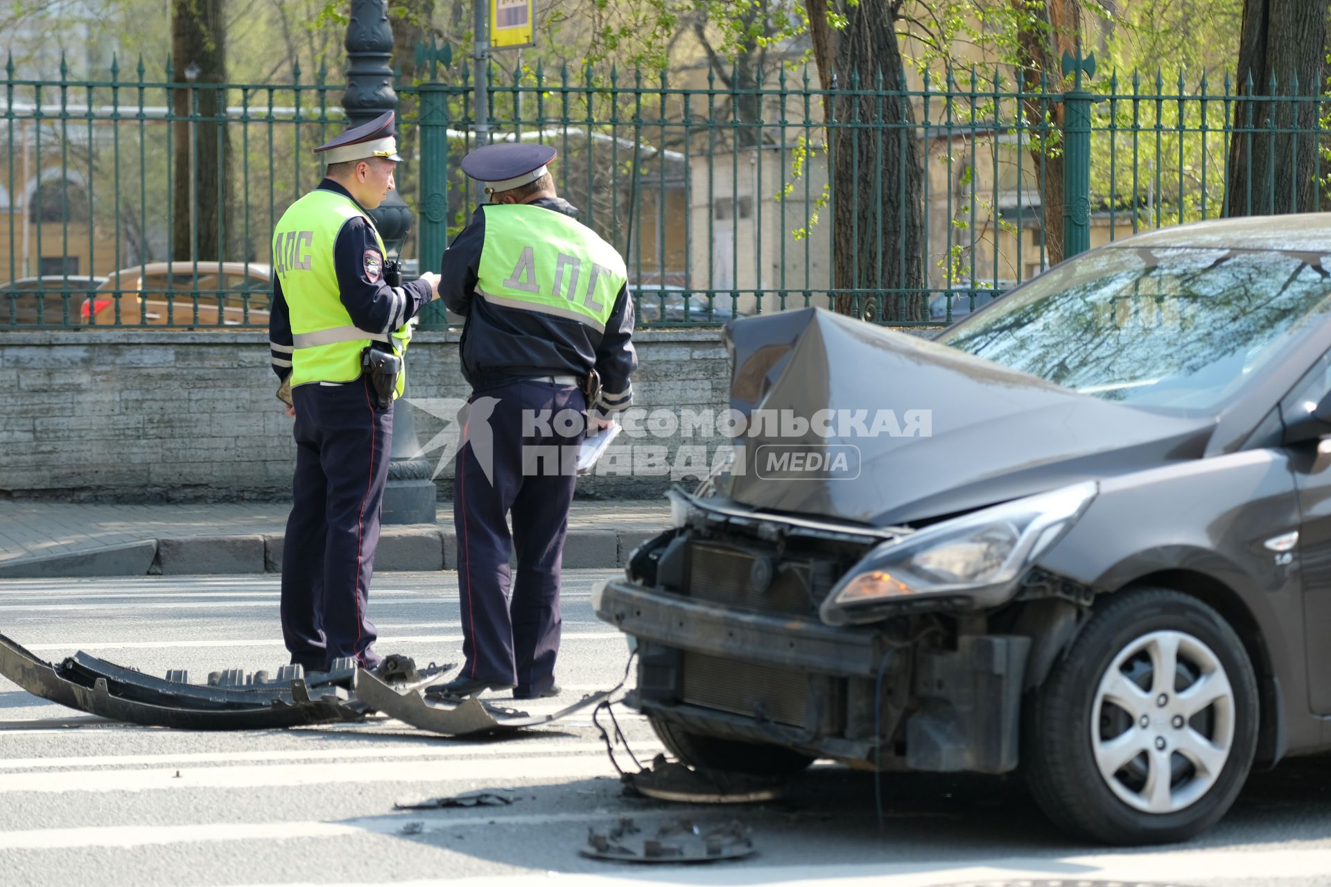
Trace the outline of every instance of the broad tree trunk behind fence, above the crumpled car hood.
<instances>
[{"instance_id":1,"label":"broad tree trunk behind fence, above the crumpled car hood","mask_svg":"<svg viewBox=\"0 0 1331 887\"><path fill-rule=\"evenodd\" d=\"M924 168L914 112L904 89L890 0L837 0L847 27L833 31L823 0L807 0L827 101L832 172L832 285L839 314L928 319L924 277ZM817 20L817 21L815 21ZM880 92L881 90L881 92ZM857 94L848 94L848 93Z\"/></svg>"}]
</instances>

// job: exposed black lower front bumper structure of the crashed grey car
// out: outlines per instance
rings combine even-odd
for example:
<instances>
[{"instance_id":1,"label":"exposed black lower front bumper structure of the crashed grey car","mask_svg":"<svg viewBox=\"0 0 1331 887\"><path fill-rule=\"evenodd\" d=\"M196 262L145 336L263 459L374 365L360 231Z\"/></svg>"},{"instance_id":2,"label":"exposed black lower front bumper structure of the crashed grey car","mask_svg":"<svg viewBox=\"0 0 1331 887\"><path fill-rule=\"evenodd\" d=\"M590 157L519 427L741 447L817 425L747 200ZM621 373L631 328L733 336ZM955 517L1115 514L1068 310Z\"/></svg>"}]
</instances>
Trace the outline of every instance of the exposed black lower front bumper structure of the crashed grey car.
<instances>
[{"instance_id":1,"label":"exposed black lower front bumper structure of the crashed grey car","mask_svg":"<svg viewBox=\"0 0 1331 887\"><path fill-rule=\"evenodd\" d=\"M599 588L592 606L638 640L634 701L650 717L861 766L1017 766L1030 638L974 634L930 646L630 581Z\"/></svg>"}]
</instances>

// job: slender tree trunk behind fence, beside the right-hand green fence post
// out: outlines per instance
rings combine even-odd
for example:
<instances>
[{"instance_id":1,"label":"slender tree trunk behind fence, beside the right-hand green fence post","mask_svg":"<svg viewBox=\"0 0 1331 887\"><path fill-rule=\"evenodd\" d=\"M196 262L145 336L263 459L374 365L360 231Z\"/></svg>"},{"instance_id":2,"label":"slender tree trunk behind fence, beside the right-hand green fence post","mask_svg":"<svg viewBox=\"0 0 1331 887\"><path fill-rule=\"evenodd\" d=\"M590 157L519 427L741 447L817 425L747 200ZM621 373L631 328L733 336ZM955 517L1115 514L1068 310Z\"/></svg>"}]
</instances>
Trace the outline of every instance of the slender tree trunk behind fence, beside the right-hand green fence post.
<instances>
[{"instance_id":1,"label":"slender tree trunk behind fence, beside the right-hand green fence post","mask_svg":"<svg viewBox=\"0 0 1331 887\"><path fill-rule=\"evenodd\" d=\"M1063 52L1070 52L1074 57L1078 52L1081 0L1042 0L1034 8L1029 0L1012 3L1018 12L1033 15L1040 21L1022 27L1017 35L1022 56L1022 82L1025 90L1033 94L1022 102L1022 114L1033 136L1044 134L1040 141L1032 142L1030 160L1037 177L1044 169L1040 203L1045 217L1045 255L1049 265L1058 265L1063 261L1063 152L1062 144L1049 144L1047 136L1063 130L1063 104L1041 100L1038 94L1044 85L1047 85L1050 93L1063 90L1062 59ZM1057 150L1050 150L1054 148ZM1025 215L1024 207L1020 211Z\"/></svg>"}]
</instances>

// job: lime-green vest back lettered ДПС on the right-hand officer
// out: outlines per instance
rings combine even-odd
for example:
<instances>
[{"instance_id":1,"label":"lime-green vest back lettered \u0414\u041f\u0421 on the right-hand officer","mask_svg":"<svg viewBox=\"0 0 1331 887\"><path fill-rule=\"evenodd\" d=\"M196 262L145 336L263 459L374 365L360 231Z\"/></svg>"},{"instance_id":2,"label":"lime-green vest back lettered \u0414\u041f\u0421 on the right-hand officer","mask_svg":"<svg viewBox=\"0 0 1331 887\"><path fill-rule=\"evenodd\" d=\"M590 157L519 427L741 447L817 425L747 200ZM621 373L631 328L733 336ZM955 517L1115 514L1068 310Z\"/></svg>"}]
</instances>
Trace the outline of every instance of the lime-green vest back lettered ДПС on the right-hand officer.
<instances>
[{"instance_id":1,"label":"lime-green vest back lettered \u0414\u041f\u0421 on the right-hand officer","mask_svg":"<svg viewBox=\"0 0 1331 887\"><path fill-rule=\"evenodd\" d=\"M624 259L575 219L524 203L483 206L476 295L491 305L584 323L604 332L628 279Z\"/></svg>"}]
</instances>

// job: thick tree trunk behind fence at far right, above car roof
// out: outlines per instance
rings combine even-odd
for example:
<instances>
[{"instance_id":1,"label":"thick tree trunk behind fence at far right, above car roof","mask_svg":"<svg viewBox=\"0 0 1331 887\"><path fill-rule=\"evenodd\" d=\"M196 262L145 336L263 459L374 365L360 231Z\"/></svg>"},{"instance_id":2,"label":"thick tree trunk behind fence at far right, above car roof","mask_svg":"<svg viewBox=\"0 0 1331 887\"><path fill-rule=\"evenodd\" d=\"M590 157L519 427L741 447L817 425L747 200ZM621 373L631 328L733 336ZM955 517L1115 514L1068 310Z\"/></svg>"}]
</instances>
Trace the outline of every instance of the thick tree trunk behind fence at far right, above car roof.
<instances>
[{"instance_id":1,"label":"thick tree trunk behind fence at far right, above car roof","mask_svg":"<svg viewBox=\"0 0 1331 887\"><path fill-rule=\"evenodd\" d=\"M1327 0L1244 0L1239 93L1310 97L1296 102L1236 101L1226 170L1226 215L1306 213L1312 209ZM1251 81L1248 80L1251 77ZM1251 82L1251 86L1248 84ZM1275 129L1267 134L1267 129ZM1295 129L1296 132L1279 132ZM1254 132L1243 132L1254 130Z\"/></svg>"}]
</instances>

